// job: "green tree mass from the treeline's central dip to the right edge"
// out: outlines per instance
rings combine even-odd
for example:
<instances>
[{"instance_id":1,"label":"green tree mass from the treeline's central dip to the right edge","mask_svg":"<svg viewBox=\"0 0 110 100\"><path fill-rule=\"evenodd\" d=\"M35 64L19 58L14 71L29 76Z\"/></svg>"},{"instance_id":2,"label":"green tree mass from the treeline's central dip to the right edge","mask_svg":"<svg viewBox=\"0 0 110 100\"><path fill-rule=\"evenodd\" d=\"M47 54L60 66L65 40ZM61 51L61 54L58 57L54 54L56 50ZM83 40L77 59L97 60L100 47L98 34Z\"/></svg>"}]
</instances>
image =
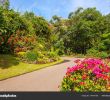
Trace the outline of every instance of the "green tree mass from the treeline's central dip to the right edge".
<instances>
[{"instance_id":1,"label":"green tree mass from the treeline's central dip to the right edge","mask_svg":"<svg viewBox=\"0 0 110 100\"><path fill-rule=\"evenodd\" d=\"M53 16L50 22L63 40L64 53L109 57L110 14L102 15L96 8L78 8L68 19Z\"/></svg>"}]
</instances>

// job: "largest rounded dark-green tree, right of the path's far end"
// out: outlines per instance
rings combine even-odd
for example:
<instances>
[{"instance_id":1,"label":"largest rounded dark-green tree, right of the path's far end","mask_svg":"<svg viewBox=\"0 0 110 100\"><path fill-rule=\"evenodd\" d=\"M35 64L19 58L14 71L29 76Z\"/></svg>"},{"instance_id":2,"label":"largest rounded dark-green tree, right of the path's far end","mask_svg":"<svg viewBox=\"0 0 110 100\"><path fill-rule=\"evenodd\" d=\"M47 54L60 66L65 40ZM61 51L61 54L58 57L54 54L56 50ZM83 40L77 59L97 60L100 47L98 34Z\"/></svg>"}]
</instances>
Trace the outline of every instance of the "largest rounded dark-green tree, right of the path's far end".
<instances>
[{"instance_id":1,"label":"largest rounded dark-green tree, right of the path's far end","mask_svg":"<svg viewBox=\"0 0 110 100\"><path fill-rule=\"evenodd\" d=\"M73 23L68 27L69 46L73 52L86 54L88 49L96 45L104 32L104 20L96 8L87 8L80 13L79 11L70 19Z\"/></svg>"}]
</instances>

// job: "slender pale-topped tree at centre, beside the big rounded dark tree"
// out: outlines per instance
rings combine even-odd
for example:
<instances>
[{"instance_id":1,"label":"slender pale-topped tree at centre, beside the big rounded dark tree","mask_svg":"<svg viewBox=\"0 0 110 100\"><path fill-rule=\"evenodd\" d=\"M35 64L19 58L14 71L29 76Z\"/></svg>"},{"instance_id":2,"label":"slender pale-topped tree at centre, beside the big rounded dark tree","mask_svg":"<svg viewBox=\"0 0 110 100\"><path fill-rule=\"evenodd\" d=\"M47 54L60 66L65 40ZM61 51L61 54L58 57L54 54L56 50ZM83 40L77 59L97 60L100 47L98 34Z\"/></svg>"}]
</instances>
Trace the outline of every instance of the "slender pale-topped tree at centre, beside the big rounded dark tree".
<instances>
[{"instance_id":1,"label":"slender pale-topped tree at centre, beside the big rounded dark tree","mask_svg":"<svg viewBox=\"0 0 110 100\"><path fill-rule=\"evenodd\" d=\"M51 45L53 45L53 48L59 49L59 54L64 54L64 41L67 37L67 20L54 15L50 23L54 26L51 34L51 37L54 38L51 39Z\"/></svg>"}]
</instances>

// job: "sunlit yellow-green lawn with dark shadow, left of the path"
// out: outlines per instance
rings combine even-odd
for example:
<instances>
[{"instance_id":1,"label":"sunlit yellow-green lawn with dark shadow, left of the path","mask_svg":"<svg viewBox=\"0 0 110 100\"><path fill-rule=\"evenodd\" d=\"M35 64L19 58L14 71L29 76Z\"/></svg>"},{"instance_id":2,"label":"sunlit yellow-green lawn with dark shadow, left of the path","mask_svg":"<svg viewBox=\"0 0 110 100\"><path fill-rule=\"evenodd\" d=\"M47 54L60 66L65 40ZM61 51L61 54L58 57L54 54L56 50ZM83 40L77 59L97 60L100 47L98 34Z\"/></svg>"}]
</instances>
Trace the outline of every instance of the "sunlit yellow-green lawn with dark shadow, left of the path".
<instances>
[{"instance_id":1,"label":"sunlit yellow-green lawn with dark shadow, left of the path","mask_svg":"<svg viewBox=\"0 0 110 100\"><path fill-rule=\"evenodd\" d=\"M32 72L62 62L59 60L48 64L27 64L19 62L11 55L0 55L0 80Z\"/></svg>"}]
</instances>

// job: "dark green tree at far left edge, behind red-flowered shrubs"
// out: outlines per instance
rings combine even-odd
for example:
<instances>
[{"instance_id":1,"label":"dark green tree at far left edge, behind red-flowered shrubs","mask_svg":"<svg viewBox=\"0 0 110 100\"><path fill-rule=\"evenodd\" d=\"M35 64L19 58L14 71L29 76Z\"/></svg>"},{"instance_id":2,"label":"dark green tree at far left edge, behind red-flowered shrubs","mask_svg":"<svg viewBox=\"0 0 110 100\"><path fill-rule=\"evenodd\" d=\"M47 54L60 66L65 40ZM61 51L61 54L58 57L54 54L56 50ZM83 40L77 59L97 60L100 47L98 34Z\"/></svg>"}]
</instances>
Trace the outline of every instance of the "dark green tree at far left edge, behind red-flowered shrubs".
<instances>
[{"instance_id":1,"label":"dark green tree at far left edge, behind red-flowered shrubs","mask_svg":"<svg viewBox=\"0 0 110 100\"><path fill-rule=\"evenodd\" d=\"M19 13L14 10L1 8L0 12L0 20L2 20L2 24L0 25L0 53L13 53L14 39L17 31L19 30L20 34L23 35L28 33L28 24Z\"/></svg>"}]
</instances>

